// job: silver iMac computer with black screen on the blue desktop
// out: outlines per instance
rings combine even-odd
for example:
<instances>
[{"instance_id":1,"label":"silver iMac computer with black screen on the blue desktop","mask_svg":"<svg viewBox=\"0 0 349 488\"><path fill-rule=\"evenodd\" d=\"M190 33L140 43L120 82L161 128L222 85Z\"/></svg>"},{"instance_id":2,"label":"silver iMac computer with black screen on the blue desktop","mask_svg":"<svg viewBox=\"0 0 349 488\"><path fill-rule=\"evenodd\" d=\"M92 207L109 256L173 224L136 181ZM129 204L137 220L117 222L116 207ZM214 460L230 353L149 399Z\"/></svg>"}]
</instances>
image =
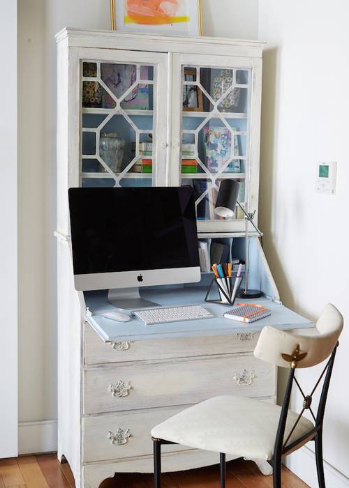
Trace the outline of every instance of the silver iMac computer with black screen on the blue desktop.
<instances>
[{"instance_id":1,"label":"silver iMac computer with black screen on the blue desktop","mask_svg":"<svg viewBox=\"0 0 349 488\"><path fill-rule=\"evenodd\" d=\"M70 188L75 289L108 289L124 310L154 307L139 287L200 281L190 187Z\"/></svg>"}]
</instances>

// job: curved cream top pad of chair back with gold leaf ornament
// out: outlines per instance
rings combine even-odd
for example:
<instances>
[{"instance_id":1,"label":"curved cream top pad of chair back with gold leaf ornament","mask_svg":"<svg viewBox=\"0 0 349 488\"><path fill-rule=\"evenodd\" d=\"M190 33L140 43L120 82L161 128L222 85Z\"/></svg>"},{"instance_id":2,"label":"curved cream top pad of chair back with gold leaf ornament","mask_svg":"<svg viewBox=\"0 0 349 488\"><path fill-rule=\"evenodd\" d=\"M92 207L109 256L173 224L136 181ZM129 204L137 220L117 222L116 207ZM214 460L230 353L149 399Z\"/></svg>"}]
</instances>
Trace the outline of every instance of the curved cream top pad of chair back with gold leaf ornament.
<instances>
[{"instance_id":1,"label":"curved cream top pad of chair back with gold leaf ornament","mask_svg":"<svg viewBox=\"0 0 349 488\"><path fill-rule=\"evenodd\" d=\"M331 303L325 305L316 329L316 335L299 335L267 326L260 333L254 355L267 363L290 368L290 357L296 354L297 367L315 366L329 357L343 329L343 317Z\"/></svg>"}]
</instances>

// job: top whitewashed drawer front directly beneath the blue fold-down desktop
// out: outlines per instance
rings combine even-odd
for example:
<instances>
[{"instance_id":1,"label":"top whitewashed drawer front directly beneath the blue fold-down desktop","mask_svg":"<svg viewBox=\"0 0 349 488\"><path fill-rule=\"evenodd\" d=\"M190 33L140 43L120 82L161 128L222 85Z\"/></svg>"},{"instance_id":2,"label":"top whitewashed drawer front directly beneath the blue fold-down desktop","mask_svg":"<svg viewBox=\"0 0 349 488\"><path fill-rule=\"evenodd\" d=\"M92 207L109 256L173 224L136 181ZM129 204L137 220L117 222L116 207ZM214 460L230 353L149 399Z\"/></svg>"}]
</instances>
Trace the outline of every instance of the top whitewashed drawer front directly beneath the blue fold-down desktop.
<instances>
[{"instance_id":1,"label":"top whitewashed drawer front directly beneath the blue fold-down desktop","mask_svg":"<svg viewBox=\"0 0 349 488\"><path fill-rule=\"evenodd\" d=\"M85 323L84 363L94 365L252 352L258 336L259 332L246 331L230 335L184 337L182 339L103 342L89 323Z\"/></svg>"}]
</instances>

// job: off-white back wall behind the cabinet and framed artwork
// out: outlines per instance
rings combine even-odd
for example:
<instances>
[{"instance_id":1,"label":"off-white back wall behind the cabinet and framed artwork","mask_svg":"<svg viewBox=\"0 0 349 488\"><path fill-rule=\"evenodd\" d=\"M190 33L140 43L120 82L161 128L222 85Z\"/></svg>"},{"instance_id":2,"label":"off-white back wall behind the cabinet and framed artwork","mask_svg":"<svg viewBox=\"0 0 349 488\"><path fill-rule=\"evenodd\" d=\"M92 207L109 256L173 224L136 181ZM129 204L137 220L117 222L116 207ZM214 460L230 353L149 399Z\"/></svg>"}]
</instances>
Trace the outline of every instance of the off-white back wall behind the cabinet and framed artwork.
<instances>
[{"instance_id":1,"label":"off-white back wall behind the cabinet and framed artwork","mask_svg":"<svg viewBox=\"0 0 349 488\"><path fill-rule=\"evenodd\" d=\"M57 415L54 34L64 26L109 29L110 13L107 0L19 0L19 11L20 443L30 452L40 443L29 437L52 432L52 422L40 421ZM258 0L202 0L202 12L207 36L257 37Z\"/></svg>"}]
</instances>

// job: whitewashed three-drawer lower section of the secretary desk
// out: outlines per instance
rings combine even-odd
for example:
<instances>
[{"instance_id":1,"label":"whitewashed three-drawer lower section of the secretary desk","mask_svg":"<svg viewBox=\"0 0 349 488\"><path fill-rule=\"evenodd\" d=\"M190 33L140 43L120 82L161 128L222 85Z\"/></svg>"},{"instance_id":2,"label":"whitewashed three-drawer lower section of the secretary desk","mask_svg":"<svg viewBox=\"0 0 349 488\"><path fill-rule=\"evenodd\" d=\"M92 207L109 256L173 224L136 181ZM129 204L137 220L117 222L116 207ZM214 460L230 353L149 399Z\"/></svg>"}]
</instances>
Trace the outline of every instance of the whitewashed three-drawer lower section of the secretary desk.
<instances>
[{"instance_id":1,"label":"whitewashed three-drawer lower section of the secretary desk","mask_svg":"<svg viewBox=\"0 0 349 488\"><path fill-rule=\"evenodd\" d=\"M250 332L113 344L103 343L85 323L84 486L98 487L118 471L151 472L150 429L184 406L226 393L274 401L276 369L253 356L258 335ZM165 471L182 469L184 452L193 457L189 461L192 468L216 462L214 453L169 445L165 446Z\"/></svg>"}]
</instances>

